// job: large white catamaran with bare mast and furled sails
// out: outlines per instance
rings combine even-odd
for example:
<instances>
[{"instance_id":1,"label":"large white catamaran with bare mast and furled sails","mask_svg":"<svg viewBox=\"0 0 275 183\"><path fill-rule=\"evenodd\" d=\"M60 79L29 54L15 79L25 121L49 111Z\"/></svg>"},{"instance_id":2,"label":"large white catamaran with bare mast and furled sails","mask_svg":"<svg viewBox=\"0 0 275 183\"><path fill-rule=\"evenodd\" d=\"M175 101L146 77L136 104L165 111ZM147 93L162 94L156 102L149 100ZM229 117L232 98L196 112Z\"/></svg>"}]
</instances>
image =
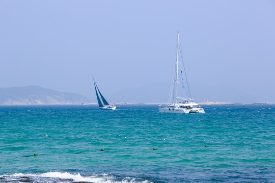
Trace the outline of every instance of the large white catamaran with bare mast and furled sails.
<instances>
[{"instance_id":1,"label":"large white catamaran with bare mast and furled sails","mask_svg":"<svg viewBox=\"0 0 275 183\"><path fill-rule=\"evenodd\" d=\"M180 52L181 53L181 52ZM177 54L176 54L176 63L175 68L171 80L169 99L167 106L161 106L159 104L158 112L159 113L204 113L203 108L196 104L193 99L191 99L190 89L188 86L188 81L185 73L185 68L183 64L183 60L181 59L181 63L179 63L179 33L177 39ZM182 55L181 55L182 58ZM183 79L182 69L180 68L179 74L179 64L183 66L185 80ZM182 95L187 97L179 97L178 93L178 84L182 84ZM174 100L176 100L174 103ZM179 101L181 100L181 101Z\"/></svg>"}]
</instances>

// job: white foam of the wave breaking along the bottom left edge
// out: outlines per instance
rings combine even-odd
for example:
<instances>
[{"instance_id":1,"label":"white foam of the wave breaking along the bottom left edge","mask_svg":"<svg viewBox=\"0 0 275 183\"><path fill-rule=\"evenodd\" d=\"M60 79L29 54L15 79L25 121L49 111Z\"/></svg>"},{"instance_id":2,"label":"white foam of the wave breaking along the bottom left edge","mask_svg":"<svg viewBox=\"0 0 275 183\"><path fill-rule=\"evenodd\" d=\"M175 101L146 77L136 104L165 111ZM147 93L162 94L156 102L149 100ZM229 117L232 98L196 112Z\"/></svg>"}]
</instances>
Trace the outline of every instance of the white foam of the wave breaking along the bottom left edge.
<instances>
[{"instance_id":1,"label":"white foam of the wave breaking along the bottom left edge","mask_svg":"<svg viewBox=\"0 0 275 183\"><path fill-rule=\"evenodd\" d=\"M94 174L92 176L83 177L79 173L69 173L69 172L46 172L41 174L23 174L23 173L15 173L13 175L0 175L0 177L6 177L6 180L16 180L20 177L30 177L34 180L34 182L41 182L41 178L59 178L61 179L60 182L94 182L94 183L135 183L135 182L142 182L142 183L149 183L148 180L139 180L139 178L133 177L124 177L119 178L114 175L110 174ZM15 178L15 179L14 179ZM62 180L66 179L66 180ZM68 180L71 179L72 181ZM37 181L36 181L37 180ZM45 180L49 181L49 180ZM51 182L51 181L50 181ZM55 180L54 182L58 182Z\"/></svg>"}]
</instances>

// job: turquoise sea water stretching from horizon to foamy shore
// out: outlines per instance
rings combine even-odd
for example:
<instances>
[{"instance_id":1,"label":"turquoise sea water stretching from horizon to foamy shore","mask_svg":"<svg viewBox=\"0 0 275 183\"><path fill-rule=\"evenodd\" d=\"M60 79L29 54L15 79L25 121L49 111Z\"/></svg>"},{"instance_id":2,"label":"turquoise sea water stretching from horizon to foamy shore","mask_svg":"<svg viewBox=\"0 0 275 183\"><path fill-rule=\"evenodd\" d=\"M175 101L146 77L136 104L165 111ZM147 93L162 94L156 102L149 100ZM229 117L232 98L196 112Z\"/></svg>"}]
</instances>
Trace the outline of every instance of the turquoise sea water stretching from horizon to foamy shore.
<instances>
[{"instance_id":1,"label":"turquoise sea water stretching from horizon to foamy shore","mask_svg":"<svg viewBox=\"0 0 275 183\"><path fill-rule=\"evenodd\" d=\"M275 182L274 105L157 107L2 106L0 182Z\"/></svg>"}]
</instances>

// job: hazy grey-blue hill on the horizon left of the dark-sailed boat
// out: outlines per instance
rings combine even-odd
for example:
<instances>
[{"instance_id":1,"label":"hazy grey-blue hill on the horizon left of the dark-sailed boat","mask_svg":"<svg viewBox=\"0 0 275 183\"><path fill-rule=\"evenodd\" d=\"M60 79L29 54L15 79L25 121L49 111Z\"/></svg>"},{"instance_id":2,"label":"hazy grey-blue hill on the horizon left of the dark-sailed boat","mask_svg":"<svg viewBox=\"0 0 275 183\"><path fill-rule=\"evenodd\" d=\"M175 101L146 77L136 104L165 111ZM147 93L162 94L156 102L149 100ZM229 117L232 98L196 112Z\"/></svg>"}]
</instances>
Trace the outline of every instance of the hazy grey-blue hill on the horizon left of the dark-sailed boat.
<instances>
[{"instance_id":1,"label":"hazy grey-blue hill on the horizon left of the dark-sailed boat","mask_svg":"<svg viewBox=\"0 0 275 183\"><path fill-rule=\"evenodd\" d=\"M0 105L77 105L91 103L88 97L40 86L0 88Z\"/></svg>"}]
</instances>

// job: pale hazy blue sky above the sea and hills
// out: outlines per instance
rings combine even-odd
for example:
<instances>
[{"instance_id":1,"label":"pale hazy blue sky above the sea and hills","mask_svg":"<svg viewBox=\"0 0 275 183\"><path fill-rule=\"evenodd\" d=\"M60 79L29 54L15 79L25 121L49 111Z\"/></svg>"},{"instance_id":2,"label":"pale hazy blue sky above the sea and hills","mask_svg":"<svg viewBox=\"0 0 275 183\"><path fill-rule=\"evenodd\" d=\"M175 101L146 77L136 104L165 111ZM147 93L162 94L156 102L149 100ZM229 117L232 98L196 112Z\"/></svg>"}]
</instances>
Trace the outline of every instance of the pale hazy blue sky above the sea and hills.
<instances>
[{"instance_id":1,"label":"pale hazy blue sky above the sea and hills","mask_svg":"<svg viewBox=\"0 0 275 183\"><path fill-rule=\"evenodd\" d=\"M177 32L195 101L275 102L275 1L0 1L0 87L166 102Z\"/></svg>"}]
</instances>

